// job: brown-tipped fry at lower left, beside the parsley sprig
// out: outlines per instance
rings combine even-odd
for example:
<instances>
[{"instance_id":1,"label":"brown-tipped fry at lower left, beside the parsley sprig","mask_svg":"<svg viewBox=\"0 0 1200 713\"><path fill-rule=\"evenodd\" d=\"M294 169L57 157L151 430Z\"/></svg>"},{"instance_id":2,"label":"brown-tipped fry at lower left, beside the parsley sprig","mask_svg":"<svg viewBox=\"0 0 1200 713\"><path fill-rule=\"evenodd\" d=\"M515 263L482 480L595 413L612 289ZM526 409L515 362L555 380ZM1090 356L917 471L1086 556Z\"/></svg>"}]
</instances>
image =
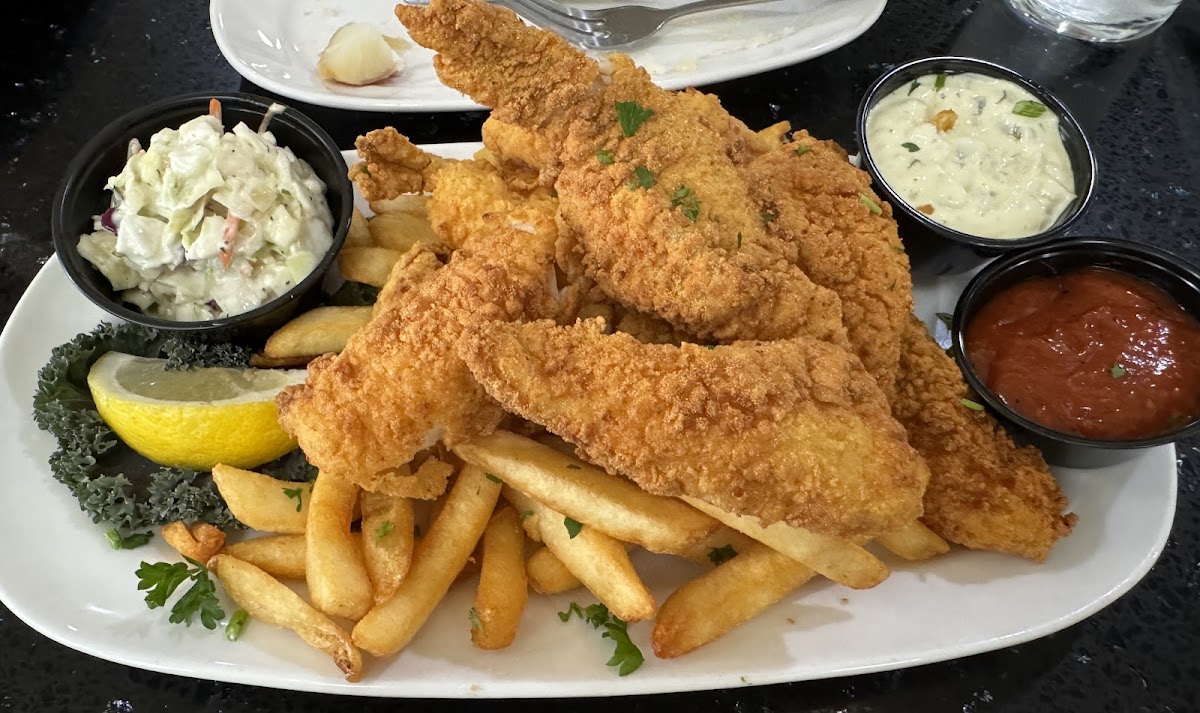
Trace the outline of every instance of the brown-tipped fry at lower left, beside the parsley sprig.
<instances>
[{"instance_id":1,"label":"brown-tipped fry at lower left, beside the parsley sprig","mask_svg":"<svg viewBox=\"0 0 1200 713\"><path fill-rule=\"evenodd\" d=\"M208 565L209 571L221 580L229 598L251 617L292 629L310 646L329 654L347 681L354 683L362 678L362 654L350 642L349 635L287 585L229 555L217 555Z\"/></svg>"}]
</instances>

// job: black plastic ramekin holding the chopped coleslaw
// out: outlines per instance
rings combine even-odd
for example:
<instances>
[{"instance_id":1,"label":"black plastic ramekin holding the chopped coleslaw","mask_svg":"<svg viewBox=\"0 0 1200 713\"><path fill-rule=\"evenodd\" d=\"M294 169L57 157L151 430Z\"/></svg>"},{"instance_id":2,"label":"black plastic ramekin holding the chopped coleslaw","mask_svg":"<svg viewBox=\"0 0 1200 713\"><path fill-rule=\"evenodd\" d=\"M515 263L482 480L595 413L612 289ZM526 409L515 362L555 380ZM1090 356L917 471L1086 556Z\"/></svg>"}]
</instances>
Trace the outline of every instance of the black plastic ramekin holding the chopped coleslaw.
<instances>
[{"instance_id":1,"label":"black plastic ramekin holding the chopped coleslaw","mask_svg":"<svg viewBox=\"0 0 1200 713\"><path fill-rule=\"evenodd\" d=\"M67 276L92 302L114 317L127 322L175 332L204 332L210 336L260 335L282 324L295 311L300 299L320 284L325 271L337 259L337 251L346 241L354 208L354 187L346 176L346 162L334 139L312 119L293 108L271 119L269 130L281 146L287 146L312 167L325 182L325 200L334 216L334 241L329 252L312 274L287 293L241 314L202 322L175 322L150 317L133 305L122 302L112 283L77 250L79 236L92 230L92 216L104 212L112 193L104 190L109 176L116 175L126 162L130 139L143 146L162 128L178 128L184 122L209 113L209 101L221 102L221 118L226 130L239 121L256 128L271 101L239 92L198 92L175 96L134 109L100 131L79 151L67 167L62 185L54 198L50 230L54 251Z\"/></svg>"}]
</instances>

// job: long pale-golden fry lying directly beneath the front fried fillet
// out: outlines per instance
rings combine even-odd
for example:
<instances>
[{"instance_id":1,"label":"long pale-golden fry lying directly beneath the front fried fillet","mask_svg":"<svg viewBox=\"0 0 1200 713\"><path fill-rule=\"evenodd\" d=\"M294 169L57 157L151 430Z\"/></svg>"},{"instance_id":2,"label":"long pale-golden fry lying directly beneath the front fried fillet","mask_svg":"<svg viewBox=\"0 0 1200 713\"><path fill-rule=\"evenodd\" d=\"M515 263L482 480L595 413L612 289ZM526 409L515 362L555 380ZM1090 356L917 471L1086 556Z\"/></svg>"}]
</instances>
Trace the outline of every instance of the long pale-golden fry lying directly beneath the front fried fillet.
<instances>
[{"instance_id":1,"label":"long pale-golden fry lying directly beneath the front fried fillet","mask_svg":"<svg viewBox=\"0 0 1200 713\"><path fill-rule=\"evenodd\" d=\"M508 431L454 449L458 457L589 528L652 552L680 553L720 523L674 498Z\"/></svg>"}]
</instances>

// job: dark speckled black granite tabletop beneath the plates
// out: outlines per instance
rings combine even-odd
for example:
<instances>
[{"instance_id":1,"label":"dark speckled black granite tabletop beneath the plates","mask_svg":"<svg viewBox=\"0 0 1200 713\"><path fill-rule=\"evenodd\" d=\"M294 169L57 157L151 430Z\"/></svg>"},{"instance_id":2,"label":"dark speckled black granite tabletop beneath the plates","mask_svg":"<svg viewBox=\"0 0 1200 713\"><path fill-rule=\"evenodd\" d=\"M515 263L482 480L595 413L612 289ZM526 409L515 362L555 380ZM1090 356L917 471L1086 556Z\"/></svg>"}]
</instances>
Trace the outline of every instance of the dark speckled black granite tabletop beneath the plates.
<instances>
[{"instance_id":1,"label":"dark speckled black granite tabletop beneath the plates","mask_svg":"<svg viewBox=\"0 0 1200 713\"><path fill-rule=\"evenodd\" d=\"M50 254L49 203L60 170L97 127L173 94L259 90L242 82L217 52L206 4L197 0L22 4L6 13L0 37L0 319L7 319ZM878 24L846 48L708 89L751 126L787 119L848 146L866 84L893 64L940 53L1013 66L1049 85L1081 120L1100 170L1080 234L1126 235L1200 262L1196 0L1184 0L1148 38L1112 48L1025 26L1000 0L893 0ZM478 139L482 120L481 114L301 108L343 146L356 133L386 124L421 142ZM959 661L814 683L620 700L347 700L109 664L43 639L0 606L0 711L1198 711L1200 439L1178 448L1175 529L1140 585L1060 634Z\"/></svg>"}]
</instances>

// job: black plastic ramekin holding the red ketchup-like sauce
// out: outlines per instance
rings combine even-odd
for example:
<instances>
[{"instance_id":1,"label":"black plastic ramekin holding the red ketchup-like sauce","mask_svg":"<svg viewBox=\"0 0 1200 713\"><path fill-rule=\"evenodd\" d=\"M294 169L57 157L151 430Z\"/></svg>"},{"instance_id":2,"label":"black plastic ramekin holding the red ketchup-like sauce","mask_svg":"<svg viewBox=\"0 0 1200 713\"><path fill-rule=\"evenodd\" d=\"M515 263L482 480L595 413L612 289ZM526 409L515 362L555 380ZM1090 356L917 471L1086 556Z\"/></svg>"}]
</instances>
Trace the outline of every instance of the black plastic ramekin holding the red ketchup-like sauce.
<instances>
[{"instance_id":1,"label":"black plastic ramekin holding the red ketchup-like sauce","mask_svg":"<svg viewBox=\"0 0 1200 713\"><path fill-rule=\"evenodd\" d=\"M1127 451L1171 443L1200 433L1200 414L1188 424L1153 438L1100 441L1048 429L1016 413L988 389L967 355L964 331L980 307L997 293L1036 277L1081 268L1108 268L1162 288L1184 311L1200 318L1200 268L1162 250L1111 238L1076 238L1007 254L979 271L959 296L950 324L954 358L971 389L1014 435L1042 449L1046 461L1069 467L1096 467L1127 457Z\"/></svg>"}]
</instances>

